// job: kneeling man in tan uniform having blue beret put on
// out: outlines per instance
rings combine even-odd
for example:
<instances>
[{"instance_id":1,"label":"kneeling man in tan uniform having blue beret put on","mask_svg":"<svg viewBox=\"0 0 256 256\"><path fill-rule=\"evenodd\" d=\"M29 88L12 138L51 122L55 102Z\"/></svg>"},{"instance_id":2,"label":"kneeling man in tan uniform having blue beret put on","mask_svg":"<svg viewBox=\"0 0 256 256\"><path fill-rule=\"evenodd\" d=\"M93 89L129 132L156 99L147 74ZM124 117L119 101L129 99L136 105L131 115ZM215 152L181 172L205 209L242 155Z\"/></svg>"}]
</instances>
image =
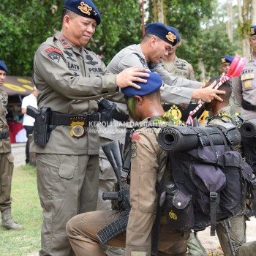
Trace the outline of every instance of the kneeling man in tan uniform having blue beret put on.
<instances>
[{"instance_id":1,"label":"kneeling man in tan uniform having blue beret put on","mask_svg":"<svg viewBox=\"0 0 256 256\"><path fill-rule=\"evenodd\" d=\"M162 78L151 72L148 83L140 91L122 89L127 96L130 116L140 121L140 127L132 135L130 205L126 233L113 238L108 244L125 246L126 256L151 256L151 236L156 211L156 184L166 169L167 152L159 147L159 127L148 127L148 122L163 121L164 111L160 102L159 88ZM79 214L67 223L67 234L77 256L105 256L99 246L97 232L120 217L119 211L96 211ZM187 255L189 231L170 230L166 222L160 226L158 254Z\"/></svg>"}]
</instances>

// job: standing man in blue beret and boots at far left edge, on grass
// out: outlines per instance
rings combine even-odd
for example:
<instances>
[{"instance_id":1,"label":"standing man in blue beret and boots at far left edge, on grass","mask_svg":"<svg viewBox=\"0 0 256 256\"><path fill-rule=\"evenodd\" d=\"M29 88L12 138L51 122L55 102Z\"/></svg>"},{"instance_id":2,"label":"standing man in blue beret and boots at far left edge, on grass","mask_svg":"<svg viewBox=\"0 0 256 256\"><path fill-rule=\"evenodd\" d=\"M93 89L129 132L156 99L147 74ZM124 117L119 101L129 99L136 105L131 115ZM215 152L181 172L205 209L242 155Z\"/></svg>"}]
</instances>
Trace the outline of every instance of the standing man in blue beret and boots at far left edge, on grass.
<instances>
[{"instance_id":1,"label":"standing man in blue beret and boots at far left edge, on grass","mask_svg":"<svg viewBox=\"0 0 256 256\"><path fill-rule=\"evenodd\" d=\"M0 61L0 86L4 84L7 76L7 66L4 61ZM23 225L12 219L12 172L13 161L12 148L9 137L9 127L7 124L7 104L8 95L0 88L0 211L1 226L9 230L22 230Z\"/></svg>"}]
</instances>

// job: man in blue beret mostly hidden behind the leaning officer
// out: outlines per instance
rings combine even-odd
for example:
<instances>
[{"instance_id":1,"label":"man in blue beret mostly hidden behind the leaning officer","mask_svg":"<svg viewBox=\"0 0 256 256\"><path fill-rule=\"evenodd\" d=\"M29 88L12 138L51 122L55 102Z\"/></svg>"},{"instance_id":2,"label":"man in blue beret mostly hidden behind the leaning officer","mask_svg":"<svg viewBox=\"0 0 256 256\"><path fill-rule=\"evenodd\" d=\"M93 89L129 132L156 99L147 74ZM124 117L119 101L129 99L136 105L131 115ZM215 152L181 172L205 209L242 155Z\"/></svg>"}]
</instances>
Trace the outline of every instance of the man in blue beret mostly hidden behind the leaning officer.
<instances>
[{"instance_id":1,"label":"man in blue beret mostly hidden behind the leaning officer","mask_svg":"<svg viewBox=\"0 0 256 256\"><path fill-rule=\"evenodd\" d=\"M177 44L170 48L167 56L164 56L164 59L161 61L162 67L164 67L167 72L173 73L178 77L195 80L195 73L192 65L176 56L176 50L178 46L181 45L181 36L176 28L171 26L170 28L176 31Z\"/></svg>"}]
</instances>

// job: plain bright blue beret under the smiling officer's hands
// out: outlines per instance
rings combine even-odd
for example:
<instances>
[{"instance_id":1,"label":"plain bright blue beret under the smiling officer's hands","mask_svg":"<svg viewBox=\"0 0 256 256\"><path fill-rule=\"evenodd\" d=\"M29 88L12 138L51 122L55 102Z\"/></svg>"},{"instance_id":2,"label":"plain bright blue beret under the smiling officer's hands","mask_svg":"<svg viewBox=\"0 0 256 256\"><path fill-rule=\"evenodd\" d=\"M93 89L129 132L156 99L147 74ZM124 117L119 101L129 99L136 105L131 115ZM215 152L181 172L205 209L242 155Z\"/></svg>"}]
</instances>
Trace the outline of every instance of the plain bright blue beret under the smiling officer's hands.
<instances>
[{"instance_id":1,"label":"plain bright blue beret under the smiling officer's hands","mask_svg":"<svg viewBox=\"0 0 256 256\"><path fill-rule=\"evenodd\" d=\"M163 85L162 77L158 75L156 72L146 72L146 73L149 74L148 78L143 78L147 80L146 83L134 82L138 86L140 86L140 89L136 89L132 86L128 86L128 87L122 88L121 92L127 97L133 97L135 95L144 96L159 90L159 88Z\"/></svg>"}]
</instances>

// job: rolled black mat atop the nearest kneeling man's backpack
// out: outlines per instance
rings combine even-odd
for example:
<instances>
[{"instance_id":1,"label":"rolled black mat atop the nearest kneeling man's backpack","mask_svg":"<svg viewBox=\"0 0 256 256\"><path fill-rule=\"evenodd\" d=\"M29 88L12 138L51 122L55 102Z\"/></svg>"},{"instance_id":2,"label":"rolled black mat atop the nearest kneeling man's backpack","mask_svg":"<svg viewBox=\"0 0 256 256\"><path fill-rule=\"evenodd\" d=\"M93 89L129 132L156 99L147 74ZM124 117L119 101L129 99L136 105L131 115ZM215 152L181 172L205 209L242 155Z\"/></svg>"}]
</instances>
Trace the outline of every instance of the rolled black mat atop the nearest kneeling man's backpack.
<instances>
[{"instance_id":1,"label":"rolled black mat atop the nearest kneeling man's backpack","mask_svg":"<svg viewBox=\"0 0 256 256\"><path fill-rule=\"evenodd\" d=\"M187 151L196 149L200 145L210 146L206 133L208 133L214 145L225 145L223 137L227 138L227 144L236 146L241 143L241 134L238 128L229 123L207 127L164 127L159 132L157 140L159 146L165 151Z\"/></svg>"}]
</instances>

